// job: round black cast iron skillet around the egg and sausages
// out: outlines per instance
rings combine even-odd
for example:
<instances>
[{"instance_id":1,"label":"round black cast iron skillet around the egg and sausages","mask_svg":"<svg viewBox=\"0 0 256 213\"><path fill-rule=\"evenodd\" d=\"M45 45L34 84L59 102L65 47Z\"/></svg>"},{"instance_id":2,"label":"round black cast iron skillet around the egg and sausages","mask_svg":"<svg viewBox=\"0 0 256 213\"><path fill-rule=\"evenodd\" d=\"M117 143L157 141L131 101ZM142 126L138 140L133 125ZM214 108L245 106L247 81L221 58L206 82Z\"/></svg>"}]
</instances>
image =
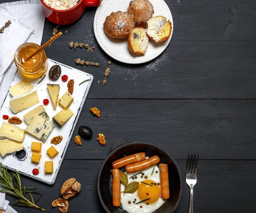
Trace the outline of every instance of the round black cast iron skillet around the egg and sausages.
<instances>
[{"instance_id":1,"label":"round black cast iron skillet around the egg and sausages","mask_svg":"<svg viewBox=\"0 0 256 213\"><path fill-rule=\"evenodd\" d=\"M166 153L165 150L158 147L157 145L145 143L145 142L130 142L128 143L125 139L119 139L112 144L113 151L103 162L99 170L98 177L98 195L99 200L108 213L119 213L126 212L122 210L122 207L113 207L112 204L112 191L111 191L111 179L112 174L110 172L112 162L122 158L123 155L132 155L134 153L145 152L146 156L158 155L160 157L160 163L168 164L169 171L169 187L170 187L170 198L161 206L155 213L173 213L181 199L182 194L182 177L180 169L176 162L171 156ZM125 168L120 168L121 171L125 172Z\"/></svg>"}]
</instances>

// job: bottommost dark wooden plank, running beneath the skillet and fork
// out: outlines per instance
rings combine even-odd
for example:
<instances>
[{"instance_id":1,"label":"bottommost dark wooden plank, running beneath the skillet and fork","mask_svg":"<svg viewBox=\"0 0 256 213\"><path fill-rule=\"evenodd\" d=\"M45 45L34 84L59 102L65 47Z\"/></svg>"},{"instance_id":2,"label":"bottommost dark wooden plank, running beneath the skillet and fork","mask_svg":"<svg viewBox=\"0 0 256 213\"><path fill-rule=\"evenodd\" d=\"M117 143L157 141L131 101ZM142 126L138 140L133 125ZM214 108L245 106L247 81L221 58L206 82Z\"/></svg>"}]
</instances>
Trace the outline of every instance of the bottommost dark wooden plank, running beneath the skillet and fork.
<instances>
[{"instance_id":1,"label":"bottommost dark wooden plank, running beneath the skillet and fork","mask_svg":"<svg viewBox=\"0 0 256 213\"><path fill-rule=\"evenodd\" d=\"M58 213L51 207L60 196L61 184L67 178L76 176L81 183L81 192L69 199L69 213L104 213L97 195L96 181L103 160L64 160L57 181L49 186L29 178L22 178L26 186L36 185L43 197L38 202L46 212ZM186 160L178 160L186 177ZM194 212L234 213L254 212L253 200L256 193L256 161L199 160L198 183L194 188ZM8 196L9 200L12 200ZM189 207L189 187L183 181L183 196L175 213L186 213ZM38 213L38 210L15 207L19 213Z\"/></svg>"}]
</instances>

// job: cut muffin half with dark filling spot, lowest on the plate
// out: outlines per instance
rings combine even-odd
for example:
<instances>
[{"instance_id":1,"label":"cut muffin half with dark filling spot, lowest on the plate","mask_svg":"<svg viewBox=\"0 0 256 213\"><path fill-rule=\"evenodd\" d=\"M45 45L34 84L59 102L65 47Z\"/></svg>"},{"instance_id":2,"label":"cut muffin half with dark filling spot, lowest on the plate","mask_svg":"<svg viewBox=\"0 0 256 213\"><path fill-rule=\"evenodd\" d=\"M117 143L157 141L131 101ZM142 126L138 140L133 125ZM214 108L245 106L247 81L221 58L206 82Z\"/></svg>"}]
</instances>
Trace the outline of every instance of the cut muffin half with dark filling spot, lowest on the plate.
<instances>
[{"instance_id":1,"label":"cut muffin half with dark filling spot, lowest on the plate","mask_svg":"<svg viewBox=\"0 0 256 213\"><path fill-rule=\"evenodd\" d=\"M129 34L128 47L135 55L144 55L148 47L146 29L135 27Z\"/></svg>"}]
</instances>

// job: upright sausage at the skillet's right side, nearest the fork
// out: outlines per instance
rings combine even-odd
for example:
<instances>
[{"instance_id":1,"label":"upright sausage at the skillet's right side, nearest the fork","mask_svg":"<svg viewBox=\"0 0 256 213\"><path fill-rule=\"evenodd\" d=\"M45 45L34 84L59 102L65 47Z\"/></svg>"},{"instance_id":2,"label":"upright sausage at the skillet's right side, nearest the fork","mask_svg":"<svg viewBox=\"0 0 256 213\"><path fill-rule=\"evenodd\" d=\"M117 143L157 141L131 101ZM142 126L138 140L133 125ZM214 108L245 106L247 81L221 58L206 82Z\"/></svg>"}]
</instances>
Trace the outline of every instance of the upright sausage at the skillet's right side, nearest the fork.
<instances>
[{"instance_id":1,"label":"upright sausage at the skillet's right side, nearest the fork","mask_svg":"<svg viewBox=\"0 0 256 213\"><path fill-rule=\"evenodd\" d=\"M161 195L163 199L168 199L170 197L168 165L159 164L159 169L160 169Z\"/></svg>"}]
</instances>

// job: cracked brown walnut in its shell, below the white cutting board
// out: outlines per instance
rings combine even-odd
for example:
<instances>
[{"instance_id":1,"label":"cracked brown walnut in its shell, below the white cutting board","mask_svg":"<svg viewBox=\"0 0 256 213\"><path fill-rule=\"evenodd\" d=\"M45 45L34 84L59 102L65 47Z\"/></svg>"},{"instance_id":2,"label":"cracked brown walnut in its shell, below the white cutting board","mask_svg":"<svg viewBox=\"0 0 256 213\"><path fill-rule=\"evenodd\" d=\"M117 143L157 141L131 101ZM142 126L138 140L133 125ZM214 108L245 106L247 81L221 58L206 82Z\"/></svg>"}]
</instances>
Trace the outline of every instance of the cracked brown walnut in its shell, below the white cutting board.
<instances>
[{"instance_id":1,"label":"cracked brown walnut in its shell, below the white cutting board","mask_svg":"<svg viewBox=\"0 0 256 213\"><path fill-rule=\"evenodd\" d=\"M79 193L81 190L81 184L76 178L67 179L61 187L61 195L65 199L69 199Z\"/></svg>"}]
</instances>

